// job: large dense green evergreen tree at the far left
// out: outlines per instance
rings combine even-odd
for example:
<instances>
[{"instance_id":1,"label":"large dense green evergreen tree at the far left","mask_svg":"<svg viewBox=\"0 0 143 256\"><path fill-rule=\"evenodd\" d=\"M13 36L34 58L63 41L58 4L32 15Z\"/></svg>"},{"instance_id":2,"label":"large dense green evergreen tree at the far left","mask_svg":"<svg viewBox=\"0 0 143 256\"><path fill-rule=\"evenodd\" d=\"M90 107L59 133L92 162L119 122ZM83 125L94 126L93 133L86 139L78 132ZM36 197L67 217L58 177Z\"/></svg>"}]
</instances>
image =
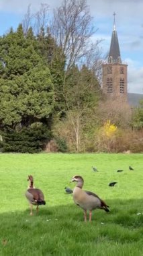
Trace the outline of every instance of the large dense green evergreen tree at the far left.
<instances>
[{"instance_id":1,"label":"large dense green evergreen tree at the far left","mask_svg":"<svg viewBox=\"0 0 143 256\"><path fill-rule=\"evenodd\" d=\"M32 29L24 36L23 28L19 25L16 32L11 30L1 37L0 56L0 129L4 149L21 151L22 145L18 147L21 141L24 152L38 151L44 147L46 137L49 139L51 136L54 86L50 70L38 53ZM38 136L34 135L36 131ZM9 134L15 134L15 139L9 139ZM16 139L24 137L23 134L27 134L27 139ZM31 147L28 141L32 134L35 139ZM15 141L14 150L12 141Z\"/></svg>"}]
</instances>

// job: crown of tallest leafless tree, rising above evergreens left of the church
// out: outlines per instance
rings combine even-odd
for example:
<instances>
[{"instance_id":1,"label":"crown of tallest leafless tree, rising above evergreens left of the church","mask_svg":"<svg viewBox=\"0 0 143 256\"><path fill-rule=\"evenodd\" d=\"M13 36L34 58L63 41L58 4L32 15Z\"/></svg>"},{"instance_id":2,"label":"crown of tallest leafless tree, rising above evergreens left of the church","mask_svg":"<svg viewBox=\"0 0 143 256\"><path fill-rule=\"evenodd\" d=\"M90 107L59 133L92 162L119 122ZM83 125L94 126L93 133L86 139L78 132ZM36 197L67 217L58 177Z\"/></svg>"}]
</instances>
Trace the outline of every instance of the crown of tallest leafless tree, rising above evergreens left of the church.
<instances>
[{"instance_id":1,"label":"crown of tallest leafless tree, rising above evergreens left of the church","mask_svg":"<svg viewBox=\"0 0 143 256\"><path fill-rule=\"evenodd\" d=\"M62 46L67 69L89 51L91 36L95 33L86 0L64 0L54 9L52 35Z\"/></svg>"}]
</instances>

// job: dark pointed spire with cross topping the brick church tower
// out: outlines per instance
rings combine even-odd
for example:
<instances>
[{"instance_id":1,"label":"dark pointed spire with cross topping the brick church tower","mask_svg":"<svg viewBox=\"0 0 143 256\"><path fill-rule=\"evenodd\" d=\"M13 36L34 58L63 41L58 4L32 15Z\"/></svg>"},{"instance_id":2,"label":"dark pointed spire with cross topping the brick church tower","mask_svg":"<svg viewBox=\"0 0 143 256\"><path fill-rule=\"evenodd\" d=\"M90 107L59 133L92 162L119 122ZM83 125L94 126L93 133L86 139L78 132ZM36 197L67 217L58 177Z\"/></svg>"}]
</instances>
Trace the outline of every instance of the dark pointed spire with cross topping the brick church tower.
<instances>
[{"instance_id":1,"label":"dark pointed spire with cross topping the brick church tower","mask_svg":"<svg viewBox=\"0 0 143 256\"><path fill-rule=\"evenodd\" d=\"M120 56L120 47L115 29L115 12L113 13L113 31L111 35L111 44L109 49L108 63L122 63Z\"/></svg>"}]
</instances>

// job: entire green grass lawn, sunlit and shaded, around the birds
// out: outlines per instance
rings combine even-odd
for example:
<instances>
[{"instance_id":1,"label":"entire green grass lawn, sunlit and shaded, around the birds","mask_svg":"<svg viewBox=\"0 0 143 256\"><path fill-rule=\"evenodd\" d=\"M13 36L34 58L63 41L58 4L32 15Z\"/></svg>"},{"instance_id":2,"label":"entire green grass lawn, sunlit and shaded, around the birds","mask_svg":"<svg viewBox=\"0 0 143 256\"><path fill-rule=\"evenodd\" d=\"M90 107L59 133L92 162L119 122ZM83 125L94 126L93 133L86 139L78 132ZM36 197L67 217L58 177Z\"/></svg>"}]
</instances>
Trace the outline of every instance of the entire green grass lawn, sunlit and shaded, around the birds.
<instances>
[{"instance_id":1,"label":"entire green grass lawn, sunlit and shaded, around the birds","mask_svg":"<svg viewBox=\"0 0 143 256\"><path fill-rule=\"evenodd\" d=\"M46 197L34 216L24 195L28 174ZM83 210L64 193L75 174L105 200L109 214L96 210L92 222L83 222ZM118 184L109 187L111 181ZM0 154L0 255L142 256L142 185L142 154Z\"/></svg>"}]
</instances>

